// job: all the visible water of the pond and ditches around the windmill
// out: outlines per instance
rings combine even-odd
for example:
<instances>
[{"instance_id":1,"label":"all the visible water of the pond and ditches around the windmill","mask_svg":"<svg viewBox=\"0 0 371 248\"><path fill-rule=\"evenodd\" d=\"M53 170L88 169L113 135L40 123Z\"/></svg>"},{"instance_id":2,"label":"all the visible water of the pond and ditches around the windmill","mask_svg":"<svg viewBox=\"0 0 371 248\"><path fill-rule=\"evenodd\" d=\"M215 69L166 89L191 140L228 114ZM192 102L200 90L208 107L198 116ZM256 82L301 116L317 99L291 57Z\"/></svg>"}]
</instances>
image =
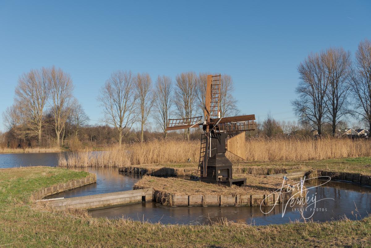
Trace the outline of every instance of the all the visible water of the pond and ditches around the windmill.
<instances>
[{"instance_id":1,"label":"all the visible water of the pond and ditches around the windmill","mask_svg":"<svg viewBox=\"0 0 371 248\"><path fill-rule=\"evenodd\" d=\"M57 166L58 153L27 153L27 154L0 154L0 168L16 166ZM131 190L139 180L139 176L128 176L118 173L115 168L81 168L97 174L97 183L83 186L78 189L54 195L53 197L75 197L109 193L123 190ZM320 181L320 183L323 183ZM320 183L306 182L306 187L312 187ZM316 203L316 212L312 216L313 221L330 221L347 216L349 219L360 219L371 212L371 188L361 187L357 184L330 181L323 186L309 189L308 196L315 195L319 200ZM325 198L333 198L334 200ZM307 204L308 205L308 204ZM144 202L133 205L118 206L106 209L89 211L93 217L107 218L131 218L139 221L161 222L164 224L209 224L226 218L235 222L246 222L255 225L281 224L299 220L301 215L295 211L297 206L287 206L282 217L283 205L263 207L262 213L259 207L168 207L155 202ZM308 207L310 208L310 207ZM312 214L307 209L303 212L305 217Z\"/></svg>"}]
</instances>

